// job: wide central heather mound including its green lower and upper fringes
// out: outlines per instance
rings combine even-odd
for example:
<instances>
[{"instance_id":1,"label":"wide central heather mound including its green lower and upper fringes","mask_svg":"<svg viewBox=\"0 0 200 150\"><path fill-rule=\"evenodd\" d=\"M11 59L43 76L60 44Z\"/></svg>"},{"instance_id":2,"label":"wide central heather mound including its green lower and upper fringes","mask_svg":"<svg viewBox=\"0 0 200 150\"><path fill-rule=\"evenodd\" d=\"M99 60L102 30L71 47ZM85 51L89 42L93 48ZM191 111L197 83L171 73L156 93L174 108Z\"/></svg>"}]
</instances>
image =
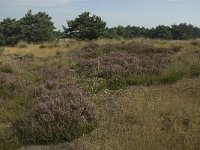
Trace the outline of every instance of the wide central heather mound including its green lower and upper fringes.
<instances>
[{"instance_id":1,"label":"wide central heather mound including its green lower and upper fringes","mask_svg":"<svg viewBox=\"0 0 200 150\"><path fill-rule=\"evenodd\" d=\"M78 75L105 79L108 89L159 82L158 76L174 53L137 42L101 46L90 43L78 51L73 67Z\"/></svg>"}]
</instances>

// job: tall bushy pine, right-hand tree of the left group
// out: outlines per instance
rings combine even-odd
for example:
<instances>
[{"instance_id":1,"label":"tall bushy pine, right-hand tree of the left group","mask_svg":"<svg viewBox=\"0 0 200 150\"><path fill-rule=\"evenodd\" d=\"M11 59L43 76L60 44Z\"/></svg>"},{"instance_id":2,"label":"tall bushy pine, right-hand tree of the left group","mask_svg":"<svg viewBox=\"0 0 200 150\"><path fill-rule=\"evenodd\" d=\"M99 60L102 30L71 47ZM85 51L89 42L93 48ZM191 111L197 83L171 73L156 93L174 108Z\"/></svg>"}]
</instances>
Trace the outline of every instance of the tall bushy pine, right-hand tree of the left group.
<instances>
[{"instance_id":1,"label":"tall bushy pine, right-hand tree of the left group","mask_svg":"<svg viewBox=\"0 0 200 150\"><path fill-rule=\"evenodd\" d=\"M44 42L52 39L54 34L54 23L45 12L28 13L20 19L22 25L23 39L27 42Z\"/></svg>"}]
</instances>

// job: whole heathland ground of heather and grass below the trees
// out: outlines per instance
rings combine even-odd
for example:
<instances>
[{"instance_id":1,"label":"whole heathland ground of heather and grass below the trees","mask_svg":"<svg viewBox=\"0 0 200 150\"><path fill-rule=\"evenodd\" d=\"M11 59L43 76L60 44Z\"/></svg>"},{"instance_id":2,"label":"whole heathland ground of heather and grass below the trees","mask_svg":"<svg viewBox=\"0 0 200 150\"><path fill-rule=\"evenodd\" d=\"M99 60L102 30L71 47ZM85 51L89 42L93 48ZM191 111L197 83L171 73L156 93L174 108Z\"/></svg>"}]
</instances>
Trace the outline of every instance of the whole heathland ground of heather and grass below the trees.
<instances>
[{"instance_id":1,"label":"whole heathland ground of heather and grass below the trees","mask_svg":"<svg viewBox=\"0 0 200 150\"><path fill-rule=\"evenodd\" d=\"M199 149L199 77L198 40L5 47L0 149Z\"/></svg>"}]
</instances>

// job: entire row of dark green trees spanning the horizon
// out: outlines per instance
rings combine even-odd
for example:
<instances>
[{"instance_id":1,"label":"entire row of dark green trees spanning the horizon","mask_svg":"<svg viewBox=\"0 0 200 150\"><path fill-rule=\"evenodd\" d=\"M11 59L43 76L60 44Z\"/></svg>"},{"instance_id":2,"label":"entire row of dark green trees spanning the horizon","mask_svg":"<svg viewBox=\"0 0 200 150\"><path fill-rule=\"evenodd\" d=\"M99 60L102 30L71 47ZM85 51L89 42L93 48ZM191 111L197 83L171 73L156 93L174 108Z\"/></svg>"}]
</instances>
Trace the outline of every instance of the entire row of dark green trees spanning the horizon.
<instances>
[{"instance_id":1,"label":"entire row of dark green trees spanning the horizon","mask_svg":"<svg viewBox=\"0 0 200 150\"><path fill-rule=\"evenodd\" d=\"M21 19L6 18L0 21L0 46L12 46L19 41L42 43L59 38L92 40L97 38L136 38L187 40L200 38L200 28L191 24L144 28L136 26L117 26L107 28L101 17L83 12L74 20L67 21L64 31L55 31L52 18L45 12L33 14L29 10Z\"/></svg>"}]
</instances>

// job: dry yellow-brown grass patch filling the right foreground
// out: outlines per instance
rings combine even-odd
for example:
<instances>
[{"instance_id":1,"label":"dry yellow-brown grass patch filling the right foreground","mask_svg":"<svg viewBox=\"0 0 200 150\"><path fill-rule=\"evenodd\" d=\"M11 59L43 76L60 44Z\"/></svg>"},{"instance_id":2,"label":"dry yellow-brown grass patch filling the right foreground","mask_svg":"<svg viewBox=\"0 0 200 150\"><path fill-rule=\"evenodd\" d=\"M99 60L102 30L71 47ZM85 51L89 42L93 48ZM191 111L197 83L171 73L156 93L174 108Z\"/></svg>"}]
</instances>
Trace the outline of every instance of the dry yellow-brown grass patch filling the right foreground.
<instances>
[{"instance_id":1,"label":"dry yellow-brown grass patch filling the right foreground","mask_svg":"<svg viewBox=\"0 0 200 150\"><path fill-rule=\"evenodd\" d=\"M199 90L197 78L98 97L103 101L99 129L72 143L22 150L200 149Z\"/></svg>"}]
</instances>

